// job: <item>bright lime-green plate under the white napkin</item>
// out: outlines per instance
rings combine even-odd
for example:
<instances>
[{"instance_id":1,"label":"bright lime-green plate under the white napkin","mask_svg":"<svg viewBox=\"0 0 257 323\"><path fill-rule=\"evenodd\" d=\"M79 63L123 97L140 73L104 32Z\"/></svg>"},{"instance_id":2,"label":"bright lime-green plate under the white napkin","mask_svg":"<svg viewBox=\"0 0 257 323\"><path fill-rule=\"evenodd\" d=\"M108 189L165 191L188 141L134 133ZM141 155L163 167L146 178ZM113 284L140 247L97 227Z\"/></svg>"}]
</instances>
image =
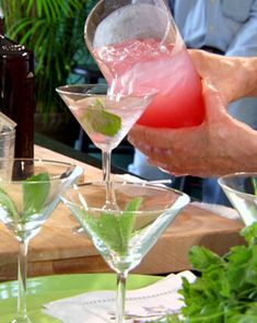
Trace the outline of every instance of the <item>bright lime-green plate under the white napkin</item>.
<instances>
[{"instance_id":1,"label":"bright lime-green plate under the white napkin","mask_svg":"<svg viewBox=\"0 0 257 323\"><path fill-rule=\"evenodd\" d=\"M157 276L130 275L128 289L145 287L160 279ZM56 275L27 280L27 310L33 323L54 323L59 320L42 313L44 303L86 291L115 289L114 274ZM0 322L10 323L16 311L16 281L0 284Z\"/></svg>"}]
</instances>

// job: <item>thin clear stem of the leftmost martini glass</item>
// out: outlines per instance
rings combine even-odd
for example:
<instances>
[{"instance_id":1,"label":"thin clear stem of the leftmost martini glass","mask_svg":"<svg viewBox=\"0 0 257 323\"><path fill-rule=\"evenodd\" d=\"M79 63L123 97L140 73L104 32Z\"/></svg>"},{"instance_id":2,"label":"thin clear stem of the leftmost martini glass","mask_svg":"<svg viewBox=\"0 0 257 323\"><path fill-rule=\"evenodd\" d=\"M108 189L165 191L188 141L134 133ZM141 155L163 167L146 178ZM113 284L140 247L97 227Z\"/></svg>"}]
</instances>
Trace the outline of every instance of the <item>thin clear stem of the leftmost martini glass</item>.
<instances>
[{"instance_id":1,"label":"thin clear stem of the leftmost martini glass","mask_svg":"<svg viewBox=\"0 0 257 323\"><path fill-rule=\"evenodd\" d=\"M17 314L14 322L31 322L26 313L26 268L27 268L27 246L28 241L19 243L19 265L17 265Z\"/></svg>"}]
</instances>

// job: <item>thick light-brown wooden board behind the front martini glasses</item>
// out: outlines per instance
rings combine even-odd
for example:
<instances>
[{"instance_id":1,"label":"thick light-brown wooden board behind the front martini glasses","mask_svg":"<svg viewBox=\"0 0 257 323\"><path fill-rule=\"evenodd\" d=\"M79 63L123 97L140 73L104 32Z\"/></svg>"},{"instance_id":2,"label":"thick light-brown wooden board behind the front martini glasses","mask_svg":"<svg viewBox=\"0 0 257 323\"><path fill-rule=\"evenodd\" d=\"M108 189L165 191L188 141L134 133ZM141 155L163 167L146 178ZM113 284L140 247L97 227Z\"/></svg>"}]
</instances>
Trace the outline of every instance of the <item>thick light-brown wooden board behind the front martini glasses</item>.
<instances>
[{"instance_id":1,"label":"thick light-brown wooden board behind the front martini glasses","mask_svg":"<svg viewBox=\"0 0 257 323\"><path fill-rule=\"evenodd\" d=\"M35 157L74 161L48 149L35 147ZM102 177L101 170L78 162L85 171L86 180ZM84 234L74 234L78 226L66 206L60 204L42 231L30 244L28 276L103 273L108 267ZM213 211L188 205L144 257L135 273L164 274L189 269L188 250L201 244L219 254L230 246L243 243L238 235L243 223L230 220ZM16 278L17 242L0 224L0 280Z\"/></svg>"}]
</instances>

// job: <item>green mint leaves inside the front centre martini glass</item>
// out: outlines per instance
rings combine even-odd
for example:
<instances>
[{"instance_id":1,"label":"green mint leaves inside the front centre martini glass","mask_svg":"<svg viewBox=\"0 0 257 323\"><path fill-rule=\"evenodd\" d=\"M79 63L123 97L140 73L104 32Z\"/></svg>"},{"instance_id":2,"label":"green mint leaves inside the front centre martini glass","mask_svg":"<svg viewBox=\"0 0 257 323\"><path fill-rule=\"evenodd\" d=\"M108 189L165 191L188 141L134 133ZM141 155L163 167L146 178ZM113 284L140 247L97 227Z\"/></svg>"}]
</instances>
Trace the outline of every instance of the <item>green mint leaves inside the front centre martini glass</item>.
<instances>
[{"instance_id":1,"label":"green mint leaves inside the front centre martini glass","mask_svg":"<svg viewBox=\"0 0 257 323\"><path fill-rule=\"evenodd\" d=\"M110 250L124 255L128 252L128 243L135 227L135 211L139 208L141 198L132 199L120 215L112 211L101 212L100 218L94 218L82 209L73 209L82 227L91 237L96 235Z\"/></svg>"}]
</instances>

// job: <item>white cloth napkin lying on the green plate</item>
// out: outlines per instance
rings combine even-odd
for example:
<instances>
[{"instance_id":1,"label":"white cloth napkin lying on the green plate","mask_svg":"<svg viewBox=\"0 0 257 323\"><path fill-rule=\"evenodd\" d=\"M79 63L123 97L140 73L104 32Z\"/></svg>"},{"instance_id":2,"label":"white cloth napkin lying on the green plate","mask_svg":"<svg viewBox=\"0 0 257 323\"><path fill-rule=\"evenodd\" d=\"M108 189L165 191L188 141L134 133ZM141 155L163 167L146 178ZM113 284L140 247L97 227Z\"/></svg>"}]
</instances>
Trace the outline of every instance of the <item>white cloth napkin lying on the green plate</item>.
<instances>
[{"instance_id":1,"label":"white cloth napkin lying on the green plate","mask_svg":"<svg viewBox=\"0 0 257 323\"><path fill-rule=\"evenodd\" d=\"M178 275L172 274L148 287L127 291L128 322L147 322L178 312L184 305L178 293L182 277L190 282L196 279L194 274L186 270ZM92 291L54 301L45 304L43 311L63 323L112 323L115 318L115 291Z\"/></svg>"}]
</instances>

